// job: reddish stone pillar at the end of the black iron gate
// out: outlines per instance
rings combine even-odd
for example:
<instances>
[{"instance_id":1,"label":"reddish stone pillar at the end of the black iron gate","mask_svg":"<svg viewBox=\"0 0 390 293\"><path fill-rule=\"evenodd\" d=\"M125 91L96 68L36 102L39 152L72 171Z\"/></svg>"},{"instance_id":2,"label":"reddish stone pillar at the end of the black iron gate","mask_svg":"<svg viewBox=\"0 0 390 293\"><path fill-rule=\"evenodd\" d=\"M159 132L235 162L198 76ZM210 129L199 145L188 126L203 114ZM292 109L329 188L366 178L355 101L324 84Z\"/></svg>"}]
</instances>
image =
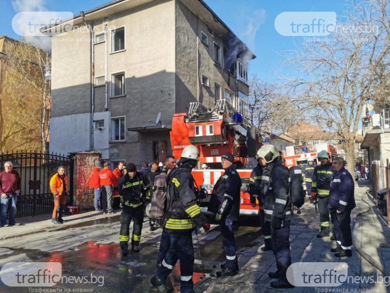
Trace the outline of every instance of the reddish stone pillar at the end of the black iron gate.
<instances>
[{"instance_id":1,"label":"reddish stone pillar at the end of the black iron gate","mask_svg":"<svg viewBox=\"0 0 390 293\"><path fill-rule=\"evenodd\" d=\"M95 161L100 161L100 153L79 152L74 156L74 192L73 202L80 209L94 208L94 191L89 188L89 179L95 167Z\"/></svg>"}]
</instances>

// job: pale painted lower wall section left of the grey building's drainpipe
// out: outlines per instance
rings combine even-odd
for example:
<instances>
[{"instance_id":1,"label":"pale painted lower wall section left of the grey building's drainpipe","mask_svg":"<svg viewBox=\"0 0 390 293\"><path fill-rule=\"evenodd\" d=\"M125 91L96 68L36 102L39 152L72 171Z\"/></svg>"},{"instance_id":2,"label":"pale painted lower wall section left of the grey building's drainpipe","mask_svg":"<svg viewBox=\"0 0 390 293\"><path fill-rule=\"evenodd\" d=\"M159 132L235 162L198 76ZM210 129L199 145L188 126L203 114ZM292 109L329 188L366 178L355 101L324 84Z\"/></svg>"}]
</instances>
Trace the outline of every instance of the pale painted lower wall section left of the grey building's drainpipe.
<instances>
[{"instance_id":1,"label":"pale painted lower wall section left of the grey building's drainpipe","mask_svg":"<svg viewBox=\"0 0 390 293\"><path fill-rule=\"evenodd\" d=\"M90 119L89 113L50 118L50 152L89 150Z\"/></svg>"}]
</instances>

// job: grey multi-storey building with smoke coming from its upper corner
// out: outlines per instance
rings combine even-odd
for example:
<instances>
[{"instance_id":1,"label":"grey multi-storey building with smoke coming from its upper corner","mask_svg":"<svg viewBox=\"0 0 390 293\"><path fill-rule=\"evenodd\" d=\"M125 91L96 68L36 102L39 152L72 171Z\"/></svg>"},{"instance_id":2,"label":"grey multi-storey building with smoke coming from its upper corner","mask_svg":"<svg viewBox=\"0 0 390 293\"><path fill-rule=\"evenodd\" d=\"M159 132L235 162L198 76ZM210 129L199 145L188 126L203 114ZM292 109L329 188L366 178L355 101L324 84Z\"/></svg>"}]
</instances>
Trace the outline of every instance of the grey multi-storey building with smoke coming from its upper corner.
<instances>
[{"instance_id":1,"label":"grey multi-storey building with smoke coming from its upper corner","mask_svg":"<svg viewBox=\"0 0 390 293\"><path fill-rule=\"evenodd\" d=\"M114 0L44 31L53 34L50 151L164 161L172 116L190 102L227 99L245 111L255 56L202 0Z\"/></svg>"}]
</instances>

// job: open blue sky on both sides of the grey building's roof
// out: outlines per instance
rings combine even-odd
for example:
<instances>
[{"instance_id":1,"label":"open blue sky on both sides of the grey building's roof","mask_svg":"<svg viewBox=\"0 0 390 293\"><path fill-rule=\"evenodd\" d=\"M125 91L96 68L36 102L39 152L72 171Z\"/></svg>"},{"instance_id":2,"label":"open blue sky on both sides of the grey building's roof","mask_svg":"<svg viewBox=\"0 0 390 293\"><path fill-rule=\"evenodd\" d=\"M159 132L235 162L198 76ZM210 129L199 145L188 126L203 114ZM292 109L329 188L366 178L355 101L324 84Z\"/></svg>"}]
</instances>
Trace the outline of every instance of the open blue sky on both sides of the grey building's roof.
<instances>
[{"instance_id":1,"label":"open blue sky on both sides of the grey building's roof","mask_svg":"<svg viewBox=\"0 0 390 293\"><path fill-rule=\"evenodd\" d=\"M0 36L20 39L12 29L12 19L17 12L41 9L43 11L80 11L100 6L108 0L0 0ZM253 50L257 58L250 61L249 76L256 73L261 79L275 79L275 68L283 60L280 52L294 47L302 37L285 37L274 26L275 18L282 12L333 11L342 14L346 0L205 0L207 5ZM16 4L19 3L19 8Z\"/></svg>"}]
</instances>

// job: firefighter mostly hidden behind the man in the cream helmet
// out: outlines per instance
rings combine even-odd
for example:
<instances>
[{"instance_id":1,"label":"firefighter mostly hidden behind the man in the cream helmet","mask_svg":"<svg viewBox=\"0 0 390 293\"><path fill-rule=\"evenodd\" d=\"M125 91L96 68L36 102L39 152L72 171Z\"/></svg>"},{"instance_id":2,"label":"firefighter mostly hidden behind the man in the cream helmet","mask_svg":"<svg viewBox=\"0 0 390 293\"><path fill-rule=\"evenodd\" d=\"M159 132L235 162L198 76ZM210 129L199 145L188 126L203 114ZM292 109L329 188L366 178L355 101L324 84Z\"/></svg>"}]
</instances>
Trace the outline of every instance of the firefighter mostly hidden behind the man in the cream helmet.
<instances>
[{"instance_id":1,"label":"firefighter mostly hidden behind the man in the cream helmet","mask_svg":"<svg viewBox=\"0 0 390 293\"><path fill-rule=\"evenodd\" d=\"M264 195L262 192L261 186L261 180L263 178L263 170L265 169L266 165L261 165L260 158L256 155L257 159L257 166L253 168L252 172L250 173L249 181L250 183L250 203L252 204L252 207L256 207L256 198L259 201L259 209L260 209L260 223L261 223L261 229L263 230L263 236L264 236L264 243L265 246L261 248L262 251L269 251L272 249L272 235L271 235L271 223L265 221L264 217Z\"/></svg>"}]
</instances>

